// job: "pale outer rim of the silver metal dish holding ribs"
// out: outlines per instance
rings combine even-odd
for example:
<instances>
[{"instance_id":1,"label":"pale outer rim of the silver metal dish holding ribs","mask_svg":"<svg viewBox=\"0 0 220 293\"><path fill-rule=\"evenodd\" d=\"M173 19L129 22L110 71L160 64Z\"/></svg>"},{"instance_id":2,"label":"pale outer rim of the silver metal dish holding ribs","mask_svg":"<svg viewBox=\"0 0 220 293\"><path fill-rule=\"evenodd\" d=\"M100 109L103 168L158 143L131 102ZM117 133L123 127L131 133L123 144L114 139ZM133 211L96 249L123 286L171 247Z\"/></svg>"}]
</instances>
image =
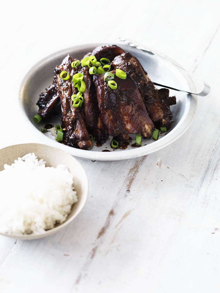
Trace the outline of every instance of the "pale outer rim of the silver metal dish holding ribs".
<instances>
[{"instance_id":1,"label":"pale outer rim of the silver metal dish holding ribs","mask_svg":"<svg viewBox=\"0 0 220 293\"><path fill-rule=\"evenodd\" d=\"M119 44L119 42L117 44L122 45L122 44ZM136 158L136 157L144 156L146 154L153 153L155 151L158 151L168 146L169 144L177 140L182 134L184 134L186 130L189 128L189 126L191 125L196 113L196 108L197 108L197 96L191 95L191 94L187 95L187 103L189 104L188 112L185 113L185 115L183 115L180 118L180 121L174 127L174 129L172 129L164 137L161 137L159 140L153 143L150 143L146 146L142 146L140 148L135 148L135 149L128 149L128 150L118 151L118 152L102 152L102 151L89 151L89 150L77 149L77 148L66 146L64 144L59 144L59 146L57 146L57 142L55 140L52 140L49 137L46 137L32 124L32 122L29 120L26 114L26 111L22 102L22 98L23 98L23 88L28 82L28 80L30 79L30 77L35 73L35 70L38 69L39 67L42 67L45 64L45 62L48 62L56 57L59 57L61 54L68 54L69 52L72 52L74 50L86 50L88 47L97 47L100 45L103 45L103 43L82 44L82 45L76 45L73 47L65 48L63 50L59 50L41 59L27 72L27 74L23 78L23 81L21 82L21 86L19 88L19 93L18 93L19 98L17 101L18 101L18 107L19 107L19 112L20 112L22 121L23 123L25 123L26 127L28 128L30 136L33 139L39 142L42 142L43 144L47 144L52 147L57 147L63 151L66 151L72 156L76 156L78 158L91 159L91 160L97 160L97 161L115 161L115 160ZM159 53L159 55L167 59L169 62L175 65L178 65L179 67L184 69L180 64L178 64L172 58L167 57L163 55L162 53ZM190 79L190 82L192 82L193 84L192 79Z\"/></svg>"}]
</instances>

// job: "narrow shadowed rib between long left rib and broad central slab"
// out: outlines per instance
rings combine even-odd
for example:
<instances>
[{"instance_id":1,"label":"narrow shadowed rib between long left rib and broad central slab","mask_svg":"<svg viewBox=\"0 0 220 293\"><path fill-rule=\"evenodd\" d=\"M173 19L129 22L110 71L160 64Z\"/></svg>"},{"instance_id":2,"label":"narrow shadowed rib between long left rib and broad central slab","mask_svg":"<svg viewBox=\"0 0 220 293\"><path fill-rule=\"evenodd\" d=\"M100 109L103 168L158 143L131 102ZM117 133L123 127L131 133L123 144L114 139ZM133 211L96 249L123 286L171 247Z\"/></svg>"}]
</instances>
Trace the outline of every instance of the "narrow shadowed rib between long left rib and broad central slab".
<instances>
[{"instance_id":1,"label":"narrow shadowed rib between long left rib and broad central slab","mask_svg":"<svg viewBox=\"0 0 220 293\"><path fill-rule=\"evenodd\" d=\"M99 108L95 86L92 81L92 75L89 74L89 68L87 66L82 67L81 64L73 69L73 74L76 73L83 74L83 81L86 85L86 89L83 93L84 120L86 126L95 139L104 140L105 127L99 118ZM77 92L77 88L73 87L73 94L77 94Z\"/></svg>"}]
</instances>

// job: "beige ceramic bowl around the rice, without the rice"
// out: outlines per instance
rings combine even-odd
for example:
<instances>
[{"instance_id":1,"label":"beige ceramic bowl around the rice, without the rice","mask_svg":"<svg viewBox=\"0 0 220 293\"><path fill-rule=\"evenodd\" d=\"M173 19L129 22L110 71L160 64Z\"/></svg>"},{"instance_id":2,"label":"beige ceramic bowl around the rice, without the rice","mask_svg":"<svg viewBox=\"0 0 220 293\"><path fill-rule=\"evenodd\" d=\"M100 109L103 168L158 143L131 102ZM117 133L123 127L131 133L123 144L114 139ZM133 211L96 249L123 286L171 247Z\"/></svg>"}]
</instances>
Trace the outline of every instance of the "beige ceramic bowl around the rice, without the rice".
<instances>
[{"instance_id":1,"label":"beige ceramic bowl around the rice, without the rice","mask_svg":"<svg viewBox=\"0 0 220 293\"><path fill-rule=\"evenodd\" d=\"M66 221L57 225L55 228L45 231L41 234L3 234L15 239L38 239L53 234L70 222L82 211L88 196L88 179L81 164L72 156L60 149L50 147L44 144L17 144L0 150L0 171L4 169L4 164L11 165L15 159L28 153L35 153L38 159L47 161L46 166L56 167L58 164L64 164L70 173L73 174L74 186L77 192L78 202L72 206L72 211Z\"/></svg>"}]
</instances>

